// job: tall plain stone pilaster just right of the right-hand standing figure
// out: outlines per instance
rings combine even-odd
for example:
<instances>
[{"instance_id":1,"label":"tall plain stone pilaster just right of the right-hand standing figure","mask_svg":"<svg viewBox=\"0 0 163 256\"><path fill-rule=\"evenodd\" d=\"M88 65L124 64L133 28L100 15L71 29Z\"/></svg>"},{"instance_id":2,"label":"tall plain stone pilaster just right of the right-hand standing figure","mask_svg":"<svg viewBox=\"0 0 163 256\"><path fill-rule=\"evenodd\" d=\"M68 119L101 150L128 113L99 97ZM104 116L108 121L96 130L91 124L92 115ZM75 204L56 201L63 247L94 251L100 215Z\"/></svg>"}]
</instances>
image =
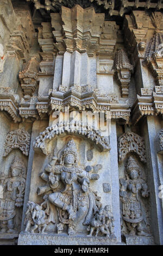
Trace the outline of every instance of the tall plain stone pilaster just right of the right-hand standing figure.
<instances>
[{"instance_id":1,"label":"tall plain stone pilaster just right of the right-hand standing figure","mask_svg":"<svg viewBox=\"0 0 163 256\"><path fill-rule=\"evenodd\" d=\"M163 242L163 216L161 199L159 198L159 186L161 184L159 176L159 161L156 155L155 137L158 133L158 121L156 117L147 117L143 123L142 132L146 141L148 181L151 191L151 227L154 240L158 244Z\"/></svg>"}]
</instances>

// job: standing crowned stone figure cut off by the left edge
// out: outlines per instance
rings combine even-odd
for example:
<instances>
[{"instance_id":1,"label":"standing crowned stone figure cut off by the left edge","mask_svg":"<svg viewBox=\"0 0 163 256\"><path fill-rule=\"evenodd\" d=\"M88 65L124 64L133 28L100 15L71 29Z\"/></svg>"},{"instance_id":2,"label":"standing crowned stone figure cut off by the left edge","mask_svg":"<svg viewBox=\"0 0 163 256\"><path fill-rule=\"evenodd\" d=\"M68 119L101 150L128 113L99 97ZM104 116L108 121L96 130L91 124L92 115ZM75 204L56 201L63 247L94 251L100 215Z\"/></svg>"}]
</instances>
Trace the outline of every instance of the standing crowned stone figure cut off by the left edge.
<instances>
[{"instance_id":1,"label":"standing crowned stone figure cut off by the left edge","mask_svg":"<svg viewBox=\"0 0 163 256\"><path fill-rule=\"evenodd\" d=\"M9 177L3 181L3 198L0 199L0 233L16 233L14 217L16 208L23 206L26 180L23 178L26 167L17 157L13 160Z\"/></svg>"}]
</instances>

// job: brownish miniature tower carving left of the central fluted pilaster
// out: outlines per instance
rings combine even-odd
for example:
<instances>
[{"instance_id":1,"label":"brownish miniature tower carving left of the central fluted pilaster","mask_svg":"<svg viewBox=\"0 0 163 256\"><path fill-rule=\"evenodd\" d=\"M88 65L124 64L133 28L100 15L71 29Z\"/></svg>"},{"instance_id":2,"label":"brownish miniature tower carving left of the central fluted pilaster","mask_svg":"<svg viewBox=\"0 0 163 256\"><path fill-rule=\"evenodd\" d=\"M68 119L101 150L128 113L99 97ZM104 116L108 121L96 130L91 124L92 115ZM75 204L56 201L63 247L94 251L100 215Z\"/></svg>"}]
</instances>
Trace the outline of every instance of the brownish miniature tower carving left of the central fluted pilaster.
<instances>
[{"instance_id":1,"label":"brownish miniature tower carving left of the central fluted pilaster","mask_svg":"<svg viewBox=\"0 0 163 256\"><path fill-rule=\"evenodd\" d=\"M27 63L26 68L19 73L19 78L21 81L21 86L24 95L32 96L35 92L37 85L37 78L39 72L39 62L37 62L36 57L32 57Z\"/></svg>"}]
</instances>

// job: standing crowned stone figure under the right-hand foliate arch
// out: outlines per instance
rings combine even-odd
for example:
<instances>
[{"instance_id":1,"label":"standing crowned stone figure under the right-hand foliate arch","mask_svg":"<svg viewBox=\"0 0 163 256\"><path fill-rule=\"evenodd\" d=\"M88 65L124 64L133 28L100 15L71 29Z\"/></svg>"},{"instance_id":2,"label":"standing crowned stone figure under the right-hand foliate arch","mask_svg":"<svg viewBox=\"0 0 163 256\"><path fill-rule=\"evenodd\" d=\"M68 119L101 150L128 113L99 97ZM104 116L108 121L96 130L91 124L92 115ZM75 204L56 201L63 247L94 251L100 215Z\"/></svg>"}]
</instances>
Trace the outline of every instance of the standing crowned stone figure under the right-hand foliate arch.
<instances>
[{"instance_id":1,"label":"standing crowned stone figure under the right-hand foliate arch","mask_svg":"<svg viewBox=\"0 0 163 256\"><path fill-rule=\"evenodd\" d=\"M129 235L147 236L145 211L142 199L149 197L148 186L141 178L141 169L133 157L129 157L126 168L126 180L120 179L121 214L127 225Z\"/></svg>"}]
</instances>

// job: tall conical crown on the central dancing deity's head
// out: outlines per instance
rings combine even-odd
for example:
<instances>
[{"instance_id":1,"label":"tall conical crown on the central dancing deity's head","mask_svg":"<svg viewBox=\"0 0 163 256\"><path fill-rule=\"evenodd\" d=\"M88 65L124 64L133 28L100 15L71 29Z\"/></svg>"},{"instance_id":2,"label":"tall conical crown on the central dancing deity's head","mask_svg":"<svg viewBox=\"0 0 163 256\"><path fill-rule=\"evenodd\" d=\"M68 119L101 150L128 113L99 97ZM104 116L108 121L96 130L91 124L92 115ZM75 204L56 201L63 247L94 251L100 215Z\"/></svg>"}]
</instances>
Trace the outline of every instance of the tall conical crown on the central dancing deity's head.
<instances>
[{"instance_id":1,"label":"tall conical crown on the central dancing deity's head","mask_svg":"<svg viewBox=\"0 0 163 256\"><path fill-rule=\"evenodd\" d=\"M68 154L74 155L75 161L77 161L78 151L77 151L77 148L76 148L76 143L74 143L73 139L71 139L71 141L69 141L66 144L64 150L62 151L61 159L60 159L61 163L64 162L65 156L68 155Z\"/></svg>"}]
</instances>

